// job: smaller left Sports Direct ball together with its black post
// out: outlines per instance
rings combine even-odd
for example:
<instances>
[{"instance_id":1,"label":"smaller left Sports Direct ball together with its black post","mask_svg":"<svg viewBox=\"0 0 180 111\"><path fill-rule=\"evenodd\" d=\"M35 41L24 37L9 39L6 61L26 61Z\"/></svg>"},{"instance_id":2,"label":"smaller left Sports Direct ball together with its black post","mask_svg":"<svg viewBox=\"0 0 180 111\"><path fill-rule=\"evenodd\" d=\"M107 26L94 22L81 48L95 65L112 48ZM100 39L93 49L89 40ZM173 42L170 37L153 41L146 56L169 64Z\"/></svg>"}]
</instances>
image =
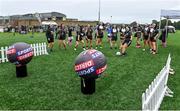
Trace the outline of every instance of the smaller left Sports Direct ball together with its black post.
<instances>
[{"instance_id":1,"label":"smaller left Sports Direct ball together with its black post","mask_svg":"<svg viewBox=\"0 0 180 111\"><path fill-rule=\"evenodd\" d=\"M11 45L7 51L9 62L16 65L16 76L27 76L26 64L33 58L33 48L24 42L19 42Z\"/></svg>"}]
</instances>

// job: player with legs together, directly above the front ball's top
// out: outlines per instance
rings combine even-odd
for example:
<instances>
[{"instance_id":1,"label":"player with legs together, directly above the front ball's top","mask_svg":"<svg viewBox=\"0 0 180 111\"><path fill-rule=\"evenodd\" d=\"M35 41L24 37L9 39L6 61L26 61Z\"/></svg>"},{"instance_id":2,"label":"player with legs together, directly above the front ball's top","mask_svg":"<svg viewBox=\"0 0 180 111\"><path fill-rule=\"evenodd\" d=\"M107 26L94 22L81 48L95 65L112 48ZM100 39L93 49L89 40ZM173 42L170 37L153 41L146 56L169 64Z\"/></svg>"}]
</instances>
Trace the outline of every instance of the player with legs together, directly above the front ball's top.
<instances>
[{"instance_id":1,"label":"player with legs together, directly above the front ball's top","mask_svg":"<svg viewBox=\"0 0 180 111\"><path fill-rule=\"evenodd\" d=\"M88 27L86 29L86 49L89 48L89 43L90 43L90 48L92 48L92 38L93 38L93 30L91 28L91 26L88 24Z\"/></svg>"}]
</instances>

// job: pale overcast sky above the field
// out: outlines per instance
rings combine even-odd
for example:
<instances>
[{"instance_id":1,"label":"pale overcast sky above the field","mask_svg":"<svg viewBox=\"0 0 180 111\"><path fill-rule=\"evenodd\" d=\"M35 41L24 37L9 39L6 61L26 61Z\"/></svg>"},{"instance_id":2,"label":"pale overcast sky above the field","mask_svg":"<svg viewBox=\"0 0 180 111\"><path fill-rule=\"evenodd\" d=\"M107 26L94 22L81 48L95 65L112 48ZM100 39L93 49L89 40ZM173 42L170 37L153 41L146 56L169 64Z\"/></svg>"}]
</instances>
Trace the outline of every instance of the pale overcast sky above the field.
<instances>
[{"instance_id":1,"label":"pale overcast sky above the field","mask_svg":"<svg viewBox=\"0 0 180 111\"><path fill-rule=\"evenodd\" d=\"M97 20L98 3L99 0L0 0L0 16L56 11L68 18ZM101 20L150 23L159 19L161 9L180 9L180 0L101 0Z\"/></svg>"}]
</instances>

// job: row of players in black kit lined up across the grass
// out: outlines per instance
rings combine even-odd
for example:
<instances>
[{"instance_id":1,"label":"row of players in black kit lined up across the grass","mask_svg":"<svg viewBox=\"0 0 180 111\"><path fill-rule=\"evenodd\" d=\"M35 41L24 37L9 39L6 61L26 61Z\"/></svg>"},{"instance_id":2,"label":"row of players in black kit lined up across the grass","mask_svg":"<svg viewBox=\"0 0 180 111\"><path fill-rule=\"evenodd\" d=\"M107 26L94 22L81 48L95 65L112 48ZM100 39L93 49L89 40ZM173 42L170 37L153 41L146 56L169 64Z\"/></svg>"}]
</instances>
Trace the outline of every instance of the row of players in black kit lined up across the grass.
<instances>
[{"instance_id":1,"label":"row of players in black kit lined up across the grass","mask_svg":"<svg viewBox=\"0 0 180 111\"><path fill-rule=\"evenodd\" d=\"M102 24L97 25L95 28L90 26L80 26L75 27L76 44L74 50L77 50L79 44L81 44L83 50L93 48L93 40L96 41L96 49L102 48L103 38L105 37L105 32L107 32L107 42L110 44L110 49L118 48L118 34L120 35L119 50L120 55L126 55L126 49L131 45L133 39L133 32L135 32L134 37L136 37L136 47L141 48L141 40L143 39L143 51L149 47L152 54L156 54L156 40L158 38L158 29L156 24L145 25L144 27L138 26L132 29L129 26L122 25L121 28L117 28L116 25L104 27ZM51 27L48 26L46 31L46 37L48 41L48 47L52 51L54 46L54 32ZM59 39L59 47L62 46L66 49L67 45L72 46L73 41L73 29L72 27L65 27L61 24L57 29L57 35ZM66 37L68 39L66 41Z\"/></svg>"}]
</instances>

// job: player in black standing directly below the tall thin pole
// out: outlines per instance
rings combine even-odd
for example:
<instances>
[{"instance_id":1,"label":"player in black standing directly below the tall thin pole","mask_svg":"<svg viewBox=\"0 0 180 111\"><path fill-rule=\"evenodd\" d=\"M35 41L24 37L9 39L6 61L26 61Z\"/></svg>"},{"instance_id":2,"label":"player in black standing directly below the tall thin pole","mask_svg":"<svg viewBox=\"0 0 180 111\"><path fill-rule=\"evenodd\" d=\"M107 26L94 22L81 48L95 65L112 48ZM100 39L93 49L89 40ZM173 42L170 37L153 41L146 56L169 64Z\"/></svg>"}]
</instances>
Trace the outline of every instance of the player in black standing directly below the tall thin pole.
<instances>
[{"instance_id":1,"label":"player in black standing directly below the tall thin pole","mask_svg":"<svg viewBox=\"0 0 180 111\"><path fill-rule=\"evenodd\" d=\"M103 39L103 26L100 25L97 29L97 40L96 40L96 49L100 47L102 49L102 39Z\"/></svg>"}]
</instances>

